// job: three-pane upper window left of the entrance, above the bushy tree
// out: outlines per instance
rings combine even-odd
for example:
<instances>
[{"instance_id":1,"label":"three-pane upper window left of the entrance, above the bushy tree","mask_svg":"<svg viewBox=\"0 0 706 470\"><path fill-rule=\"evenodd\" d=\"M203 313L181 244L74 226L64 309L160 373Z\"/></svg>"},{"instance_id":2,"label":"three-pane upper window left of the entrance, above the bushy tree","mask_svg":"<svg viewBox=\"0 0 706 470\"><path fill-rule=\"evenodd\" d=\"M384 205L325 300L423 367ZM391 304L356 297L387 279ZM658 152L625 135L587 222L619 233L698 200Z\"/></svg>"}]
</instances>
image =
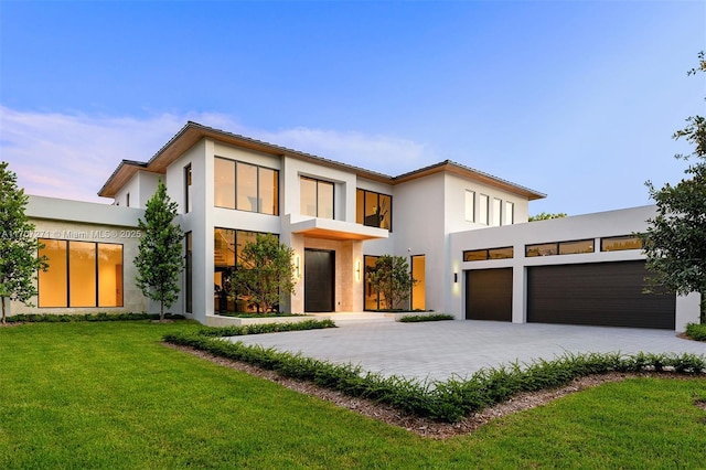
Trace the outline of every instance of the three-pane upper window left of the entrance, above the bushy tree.
<instances>
[{"instance_id":1,"label":"three-pane upper window left of the entrance, above the bushy tree","mask_svg":"<svg viewBox=\"0 0 706 470\"><path fill-rule=\"evenodd\" d=\"M216 157L214 204L279 215L279 171Z\"/></svg>"}]
</instances>

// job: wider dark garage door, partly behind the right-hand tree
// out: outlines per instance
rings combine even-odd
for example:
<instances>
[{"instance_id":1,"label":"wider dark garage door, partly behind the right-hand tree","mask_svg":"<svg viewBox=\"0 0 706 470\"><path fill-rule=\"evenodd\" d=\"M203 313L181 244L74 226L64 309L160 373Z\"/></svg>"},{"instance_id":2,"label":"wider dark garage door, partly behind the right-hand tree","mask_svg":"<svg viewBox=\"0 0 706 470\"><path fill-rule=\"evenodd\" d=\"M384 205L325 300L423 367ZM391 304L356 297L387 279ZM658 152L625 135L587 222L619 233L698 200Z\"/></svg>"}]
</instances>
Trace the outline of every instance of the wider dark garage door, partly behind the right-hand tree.
<instances>
[{"instance_id":1,"label":"wider dark garage door, partly behind the right-hand tree","mask_svg":"<svg viewBox=\"0 0 706 470\"><path fill-rule=\"evenodd\" d=\"M527 321L674 329L676 296L642 293L644 261L527 268Z\"/></svg>"}]
</instances>

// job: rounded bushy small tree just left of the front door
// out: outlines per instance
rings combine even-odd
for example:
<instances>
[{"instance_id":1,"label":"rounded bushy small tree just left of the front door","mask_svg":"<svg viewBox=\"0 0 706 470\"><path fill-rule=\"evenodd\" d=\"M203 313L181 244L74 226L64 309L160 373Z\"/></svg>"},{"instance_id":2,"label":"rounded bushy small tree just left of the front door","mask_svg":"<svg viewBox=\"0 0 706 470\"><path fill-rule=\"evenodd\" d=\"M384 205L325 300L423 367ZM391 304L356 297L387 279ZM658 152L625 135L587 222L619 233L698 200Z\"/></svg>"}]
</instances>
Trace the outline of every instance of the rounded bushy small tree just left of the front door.
<instances>
[{"instance_id":1,"label":"rounded bushy small tree just left of the front door","mask_svg":"<svg viewBox=\"0 0 706 470\"><path fill-rule=\"evenodd\" d=\"M285 295L295 291L293 249L271 234L257 234L243 247L231 277L233 293L254 305L257 312L272 311Z\"/></svg>"}]
</instances>

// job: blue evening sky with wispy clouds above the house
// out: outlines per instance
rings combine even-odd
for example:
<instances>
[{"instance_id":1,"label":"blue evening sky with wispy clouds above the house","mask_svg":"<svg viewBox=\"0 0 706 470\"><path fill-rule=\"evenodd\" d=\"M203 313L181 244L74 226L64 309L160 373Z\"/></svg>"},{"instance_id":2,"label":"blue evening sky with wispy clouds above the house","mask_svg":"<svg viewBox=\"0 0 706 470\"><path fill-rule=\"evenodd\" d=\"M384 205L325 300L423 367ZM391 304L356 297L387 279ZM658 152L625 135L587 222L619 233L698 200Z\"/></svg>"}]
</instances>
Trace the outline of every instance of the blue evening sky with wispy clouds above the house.
<instances>
[{"instance_id":1,"label":"blue evening sky with wispy clouds above the house","mask_svg":"<svg viewBox=\"0 0 706 470\"><path fill-rule=\"evenodd\" d=\"M0 0L0 158L101 201L191 119L393 175L450 159L533 214L644 205L683 177L702 50L704 1Z\"/></svg>"}]
</instances>

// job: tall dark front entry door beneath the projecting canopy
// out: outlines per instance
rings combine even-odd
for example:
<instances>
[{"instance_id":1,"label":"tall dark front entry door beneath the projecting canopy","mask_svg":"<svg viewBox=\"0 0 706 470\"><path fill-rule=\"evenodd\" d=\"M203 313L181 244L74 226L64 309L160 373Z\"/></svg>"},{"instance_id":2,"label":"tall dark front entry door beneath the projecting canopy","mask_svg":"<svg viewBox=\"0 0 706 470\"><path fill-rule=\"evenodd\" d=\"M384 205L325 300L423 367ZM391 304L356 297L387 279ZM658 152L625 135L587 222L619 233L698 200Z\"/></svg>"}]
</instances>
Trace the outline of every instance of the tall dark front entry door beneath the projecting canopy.
<instances>
[{"instance_id":1,"label":"tall dark front entry door beneath the projecting canopy","mask_svg":"<svg viewBox=\"0 0 706 470\"><path fill-rule=\"evenodd\" d=\"M334 307L335 252L304 250L304 311L331 312Z\"/></svg>"}]
</instances>

